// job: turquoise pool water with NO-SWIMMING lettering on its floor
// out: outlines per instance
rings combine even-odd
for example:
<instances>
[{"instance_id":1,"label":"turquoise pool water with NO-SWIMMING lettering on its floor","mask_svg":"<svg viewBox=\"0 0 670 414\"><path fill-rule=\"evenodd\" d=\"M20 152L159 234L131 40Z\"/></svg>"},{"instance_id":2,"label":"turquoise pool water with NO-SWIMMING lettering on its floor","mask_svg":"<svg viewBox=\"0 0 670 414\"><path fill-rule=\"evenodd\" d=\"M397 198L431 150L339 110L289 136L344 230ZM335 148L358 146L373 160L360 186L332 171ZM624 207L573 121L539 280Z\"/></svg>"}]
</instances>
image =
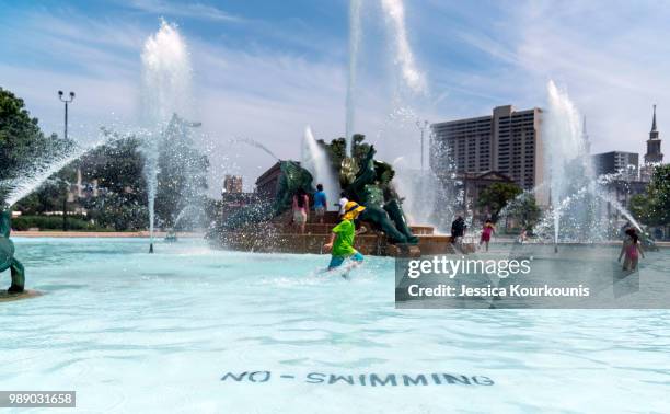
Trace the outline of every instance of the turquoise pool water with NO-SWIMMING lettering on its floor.
<instances>
[{"instance_id":1,"label":"turquoise pool water with NO-SWIMMING lettering on its floor","mask_svg":"<svg viewBox=\"0 0 670 414\"><path fill-rule=\"evenodd\" d=\"M0 389L81 412L670 411L667 310L397 310L390 258L345 280L319 255L15 243L44 296L0 303Z\"/></svg>"}]
</instances>

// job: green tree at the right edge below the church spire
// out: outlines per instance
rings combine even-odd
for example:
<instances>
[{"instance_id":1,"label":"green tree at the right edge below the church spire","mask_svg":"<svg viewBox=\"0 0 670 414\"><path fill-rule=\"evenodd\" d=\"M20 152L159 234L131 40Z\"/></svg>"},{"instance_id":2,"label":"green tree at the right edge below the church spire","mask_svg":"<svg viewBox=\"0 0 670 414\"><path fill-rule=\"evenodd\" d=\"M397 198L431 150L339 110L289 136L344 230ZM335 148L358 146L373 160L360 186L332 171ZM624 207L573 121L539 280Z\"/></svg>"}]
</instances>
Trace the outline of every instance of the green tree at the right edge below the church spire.
<instances>
[{"instance_id":1,"label":"green tree at the right edge below the church spire","mask_svg":"<svg viewBox=\"0 0 670 414\"><path fill-rule=\"evenodd\" d=\"M631 211L645 225L670 223L670 164L654 169L647 193L631 197Z\"/></svg>"}]
</instances>

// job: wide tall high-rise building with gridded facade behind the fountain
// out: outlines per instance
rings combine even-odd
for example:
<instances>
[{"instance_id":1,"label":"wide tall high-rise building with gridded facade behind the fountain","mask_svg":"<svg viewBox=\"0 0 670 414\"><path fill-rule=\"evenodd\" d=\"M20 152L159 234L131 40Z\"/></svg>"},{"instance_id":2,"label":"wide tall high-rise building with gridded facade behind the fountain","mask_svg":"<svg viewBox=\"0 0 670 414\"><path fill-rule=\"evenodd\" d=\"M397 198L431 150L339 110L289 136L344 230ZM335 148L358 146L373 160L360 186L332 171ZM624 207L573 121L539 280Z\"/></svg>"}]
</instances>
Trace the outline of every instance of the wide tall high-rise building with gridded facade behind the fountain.
<instances>
[{"instance_id":1,"label":"wide tall high-rise building with gridded facade behind the fountain","mask_svg":"<svg viewBox=\"0 0 670 414\"><path fill-rule=\"evenodd\" d=\"M505 105L488 116L434 124L430 166L438 176L495 171L532 189L543 181L541 114Z\"/></svg>"}]
</instances>

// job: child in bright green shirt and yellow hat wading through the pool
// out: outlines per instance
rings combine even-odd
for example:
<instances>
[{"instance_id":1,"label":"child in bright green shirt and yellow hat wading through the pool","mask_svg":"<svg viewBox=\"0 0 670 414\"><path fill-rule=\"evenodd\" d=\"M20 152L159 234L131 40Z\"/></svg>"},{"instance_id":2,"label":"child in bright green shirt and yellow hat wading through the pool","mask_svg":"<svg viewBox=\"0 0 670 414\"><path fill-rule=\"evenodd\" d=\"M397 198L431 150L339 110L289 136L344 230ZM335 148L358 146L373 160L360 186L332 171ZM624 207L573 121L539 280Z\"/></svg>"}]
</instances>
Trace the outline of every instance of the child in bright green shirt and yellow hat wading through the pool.
<instances>
[{"instance_id":1,"label":"child in bright green shirt and yellow hat wading through the pool","mask_svg":"<svg viewBox=\"0 0 670 414\"><path fill-rule=\"evenodd\" d=\"M360 264L363 261L362 254L354 249L354 237L362 232L356 231L354 220L365 209L365 207L359 206L356 202L348 202L345 205L342 221L333 228L331 240L323 245L323 249L332 254L328 271L342 266L347 258L350 258L356 264Z\"/></svg>"}]
</instances>

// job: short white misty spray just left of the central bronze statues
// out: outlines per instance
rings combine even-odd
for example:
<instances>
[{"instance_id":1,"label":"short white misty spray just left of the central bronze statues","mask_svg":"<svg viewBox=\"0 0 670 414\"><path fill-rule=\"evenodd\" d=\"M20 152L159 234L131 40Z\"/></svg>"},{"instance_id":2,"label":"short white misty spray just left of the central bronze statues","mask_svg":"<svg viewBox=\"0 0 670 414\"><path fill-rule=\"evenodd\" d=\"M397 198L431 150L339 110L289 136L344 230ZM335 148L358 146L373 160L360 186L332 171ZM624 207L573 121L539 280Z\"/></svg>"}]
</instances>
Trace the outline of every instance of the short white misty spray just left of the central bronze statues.
<instances>
[{"instance_id":1,"label":"short white misty spray just left of the central bronze statues","mask_svg":"<svg viewBox=\"0 0 670 414\"><path fill-rule=\"evenodd\" d=\"M301 165L314 177L313 185L323 184L328 210L337 210L335 203L339 199L339 181L333 172L326 149L316 142L309 125L304 128L301 158Z\"/></svg>"}]
</instances>

